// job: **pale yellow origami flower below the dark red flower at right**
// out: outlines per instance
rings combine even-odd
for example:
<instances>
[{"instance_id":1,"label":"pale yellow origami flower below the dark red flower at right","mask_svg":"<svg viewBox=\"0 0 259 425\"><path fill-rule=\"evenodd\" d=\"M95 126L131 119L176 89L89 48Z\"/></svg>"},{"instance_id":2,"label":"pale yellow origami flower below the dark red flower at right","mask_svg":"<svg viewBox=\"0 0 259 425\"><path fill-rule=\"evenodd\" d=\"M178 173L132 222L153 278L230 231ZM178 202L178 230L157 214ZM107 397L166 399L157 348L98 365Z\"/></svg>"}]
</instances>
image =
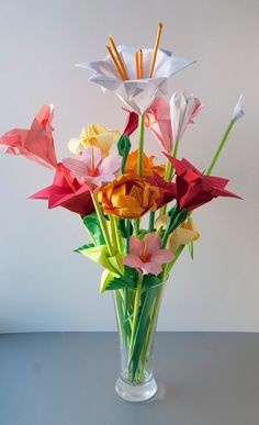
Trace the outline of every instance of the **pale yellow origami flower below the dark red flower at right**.
<instances>
[{"instance_id":1,"label":"pale yellow origami flower below the dark red flower at right","mask_svg":"<svg viewBox=\"0 0 259 425\"><path fill-rule=\"evenodd\" d=\"M155 227L159 230L160 227L165 227L167 224L166 215L162 215L157 219ZM200 233L191 219L187 219L179 227L173 231L167 244L167 249L170 249L172 253L176 253L177 248L181 245L188 245L191 242L199 239Z\"/></svg>"}]
</instances>

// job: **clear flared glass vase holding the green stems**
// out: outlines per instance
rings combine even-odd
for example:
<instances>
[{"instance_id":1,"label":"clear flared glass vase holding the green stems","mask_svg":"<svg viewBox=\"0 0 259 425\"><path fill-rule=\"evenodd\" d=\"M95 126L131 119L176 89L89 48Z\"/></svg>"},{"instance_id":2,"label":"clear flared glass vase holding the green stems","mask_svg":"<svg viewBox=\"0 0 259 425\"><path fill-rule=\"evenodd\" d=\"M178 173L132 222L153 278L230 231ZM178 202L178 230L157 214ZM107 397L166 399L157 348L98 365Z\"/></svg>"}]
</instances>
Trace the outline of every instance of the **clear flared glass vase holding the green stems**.
<instances>
[{"instance_id":1,"label":"clear flared glass vase holding the green stems","mask_svg":"<svg viewBox=\"0 0 259 425\"><path fill-rule=\"evenodd\" d=\"M153 347L164 289L165 282L148 289L137 286L113 291L121 355L115 390L124 400L146 401L157 392Z\"/></svg>"}]
</instances>

